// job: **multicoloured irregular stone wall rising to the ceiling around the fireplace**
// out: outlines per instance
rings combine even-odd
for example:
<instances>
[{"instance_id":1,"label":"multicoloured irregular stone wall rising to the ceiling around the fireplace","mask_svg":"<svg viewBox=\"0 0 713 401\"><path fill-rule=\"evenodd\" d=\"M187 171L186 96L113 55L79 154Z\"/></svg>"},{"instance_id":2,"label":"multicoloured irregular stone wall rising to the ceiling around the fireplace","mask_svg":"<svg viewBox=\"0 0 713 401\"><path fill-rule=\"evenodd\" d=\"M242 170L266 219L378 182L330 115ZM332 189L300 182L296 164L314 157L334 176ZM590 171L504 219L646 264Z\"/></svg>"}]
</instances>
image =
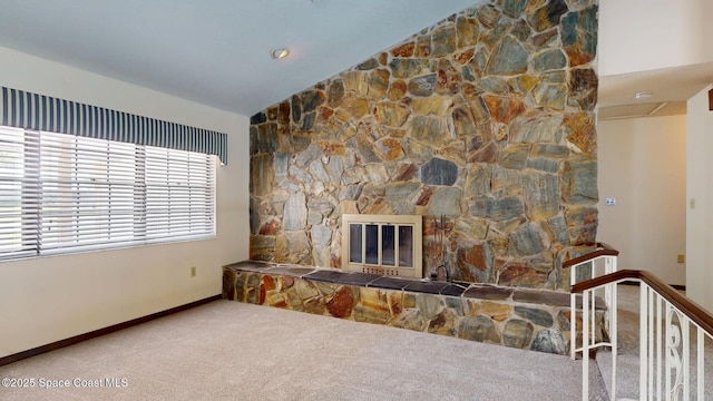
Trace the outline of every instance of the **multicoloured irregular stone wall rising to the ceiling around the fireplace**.
<instances>
[{"instance_id":1,"label":"multicoloured irregular stone wall rising to the ceiling around the fireplace","mask_svg":"<svg viewBox=\"0 0 713 401\"><path fill-rule=\"evenodd\" d=\"M564 290L595 243L596 0L492 0L251 118L251 258L341 266L343 213L446 215L456 280ZM364 27L369 29L369 27Z\"/></svg>"}]
</instances>

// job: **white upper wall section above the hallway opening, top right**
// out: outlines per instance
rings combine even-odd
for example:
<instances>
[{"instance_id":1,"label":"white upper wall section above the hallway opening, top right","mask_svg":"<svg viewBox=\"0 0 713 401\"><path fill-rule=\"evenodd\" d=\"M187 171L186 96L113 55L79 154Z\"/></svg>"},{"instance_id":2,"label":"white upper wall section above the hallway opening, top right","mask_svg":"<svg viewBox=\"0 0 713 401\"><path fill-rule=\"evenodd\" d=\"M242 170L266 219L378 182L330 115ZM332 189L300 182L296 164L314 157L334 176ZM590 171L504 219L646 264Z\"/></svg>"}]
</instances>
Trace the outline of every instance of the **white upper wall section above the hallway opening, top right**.
<instances>
[{"instance_id":1,"label":"white upper wall section above the hallway opening, top right","mask_svg":"<svg viewBox=\"0 0 713 401\"><path fill-rule=\"evenodd\" d=\"M713 61L711 16L711 0L599 0L599 76Z\"/></svg>"}]
</instances>

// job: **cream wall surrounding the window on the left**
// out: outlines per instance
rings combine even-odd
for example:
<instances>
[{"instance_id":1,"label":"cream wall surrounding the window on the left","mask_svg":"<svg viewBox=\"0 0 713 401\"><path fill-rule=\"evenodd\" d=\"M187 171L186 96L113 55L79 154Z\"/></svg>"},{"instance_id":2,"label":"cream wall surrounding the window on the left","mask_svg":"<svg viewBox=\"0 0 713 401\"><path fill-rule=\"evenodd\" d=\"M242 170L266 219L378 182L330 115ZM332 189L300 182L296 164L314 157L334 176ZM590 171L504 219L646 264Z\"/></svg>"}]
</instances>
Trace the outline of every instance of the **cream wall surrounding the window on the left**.
<instances>
[{"instance_id":1,"label":"cream wall surrounding the window on the left","mask_svg":"<svg viewBox=\"0 0 713 401\"><path fill-rule=\"evenodd\" d=\"M0 263L0 356L221 293L221 267L248 257L247 117L4 48L0 86L228 134L216 239Z\"/></svg>"}]
</instances>

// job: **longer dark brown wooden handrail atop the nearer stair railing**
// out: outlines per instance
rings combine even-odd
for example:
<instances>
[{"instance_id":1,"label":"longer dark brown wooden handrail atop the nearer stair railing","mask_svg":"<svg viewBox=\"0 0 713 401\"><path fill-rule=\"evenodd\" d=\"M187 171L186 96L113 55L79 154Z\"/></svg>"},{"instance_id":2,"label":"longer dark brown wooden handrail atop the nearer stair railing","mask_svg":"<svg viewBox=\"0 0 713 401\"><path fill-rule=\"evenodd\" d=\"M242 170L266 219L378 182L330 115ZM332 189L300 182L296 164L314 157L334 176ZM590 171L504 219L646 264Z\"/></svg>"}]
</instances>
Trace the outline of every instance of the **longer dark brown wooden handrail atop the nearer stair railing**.
<instances>
[{"instance_id":1,"label":"longer dark brown wooden handrail atop the nearer stair railing","mask_svg":"<svg viewBox=\"0 0 713 401\"><path fill-rule=\"evenodd\" d=\"M654 291L656 291L658 295L663 296L672 305L676 306L676 309L678 309L678 311L685 314L690 320L695 322L710 336L713 336L713 314L711 314L709 311L704 310L702 306L691 301L686 296L681 295L671 285L665 284L661 281L661 278L656 277L651 272L622 270L577 283L572 286L570 292L578 294L586 290L592 290L600 285L623 280L639 280L646 283L649 287L654 288Z\"/></svg>"}]
</instances>

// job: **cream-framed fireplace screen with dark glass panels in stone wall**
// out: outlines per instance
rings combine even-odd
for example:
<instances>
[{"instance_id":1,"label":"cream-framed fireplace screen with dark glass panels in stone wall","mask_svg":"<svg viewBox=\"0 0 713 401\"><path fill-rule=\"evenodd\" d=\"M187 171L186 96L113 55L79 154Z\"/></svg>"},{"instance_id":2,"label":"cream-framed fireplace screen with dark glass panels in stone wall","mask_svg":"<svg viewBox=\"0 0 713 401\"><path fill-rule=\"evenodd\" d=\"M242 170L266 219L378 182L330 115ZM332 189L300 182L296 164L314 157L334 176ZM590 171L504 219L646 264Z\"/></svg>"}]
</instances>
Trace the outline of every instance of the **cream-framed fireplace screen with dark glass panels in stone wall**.
<instances>
[{"instance_id":1,"label":"cream-framed fireplace screen with dark glass panels in stone wall","mask_svg":"<svg viewBox=\"0 0 713 401\"><path fill-rule=\"evenodd\" d=\"M421 216L343 215L346 271L421 277Z\"/></svg>"}]
</instances>

